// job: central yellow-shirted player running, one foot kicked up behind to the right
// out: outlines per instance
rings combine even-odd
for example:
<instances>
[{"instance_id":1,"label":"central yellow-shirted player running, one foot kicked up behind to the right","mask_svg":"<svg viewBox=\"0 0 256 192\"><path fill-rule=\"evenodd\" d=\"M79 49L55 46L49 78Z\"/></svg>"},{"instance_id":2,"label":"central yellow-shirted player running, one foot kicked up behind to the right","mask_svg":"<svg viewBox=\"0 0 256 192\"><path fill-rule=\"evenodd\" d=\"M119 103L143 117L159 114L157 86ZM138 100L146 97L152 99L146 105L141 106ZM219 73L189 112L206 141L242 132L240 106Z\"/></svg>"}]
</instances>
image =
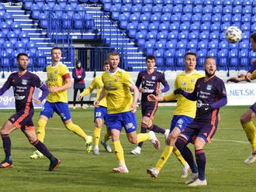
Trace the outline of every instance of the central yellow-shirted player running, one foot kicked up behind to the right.
<instances>
[{"instance_id":1,"label":"central yellow-shirted player running, one foot kicked up behind to the right","mask_svg":"<svg viewBox=\"0 0 256 192\"><path fill-rule=\"evenodd\" d=\"M111 52L108 59L110 60L110 69L102 74L104 87L98 100L94 101L94 105L98 107L99 101L106 96L108 125L112 135L116 158L119 161L119 167L114 168L113 171L116 173L129 173L120 142L122 128L124 127L126 130L126 136L130 143L135 144L150 140L154 147L159 149L160 142L154 135L154 132L136 133L137 121L135 112L139 91L133 83L130 74L118 67L120 61L119 54ZM133 96L130 91L133 91Z\"/></svg>"}]
</instances>

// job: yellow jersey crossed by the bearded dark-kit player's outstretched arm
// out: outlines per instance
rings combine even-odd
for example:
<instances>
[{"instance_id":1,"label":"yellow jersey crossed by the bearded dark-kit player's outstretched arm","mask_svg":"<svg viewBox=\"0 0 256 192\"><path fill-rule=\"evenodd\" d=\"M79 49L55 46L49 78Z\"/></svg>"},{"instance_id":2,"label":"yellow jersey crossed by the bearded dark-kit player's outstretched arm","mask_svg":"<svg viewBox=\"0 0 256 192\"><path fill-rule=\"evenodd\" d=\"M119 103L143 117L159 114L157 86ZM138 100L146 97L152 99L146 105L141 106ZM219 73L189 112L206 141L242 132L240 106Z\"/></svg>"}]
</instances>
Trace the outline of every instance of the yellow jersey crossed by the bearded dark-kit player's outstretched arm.
<instances>
[{"instance_id":1,"label":"yellow jersey crossed by the bearded dark-kit player's outstretched arm","mask_svg":"<svg viewBox=\"0 0 256 192\"><path fill-rule=\"evenodd\" d=\"M182 74L178 74L175 79L175 89L182 88L182 90L192 93L195 88L195 82L203 77L202 74L199 74L196 70L191 74L185 74L185 71ZM191 118L195 118L196 111L196 101L190 101L186 99L182 94L168 94L164 96L165 101L170 101L178 99L177 106L175 107L175 111L173 115L186 115Z\"/></svg>"}]
</instances>

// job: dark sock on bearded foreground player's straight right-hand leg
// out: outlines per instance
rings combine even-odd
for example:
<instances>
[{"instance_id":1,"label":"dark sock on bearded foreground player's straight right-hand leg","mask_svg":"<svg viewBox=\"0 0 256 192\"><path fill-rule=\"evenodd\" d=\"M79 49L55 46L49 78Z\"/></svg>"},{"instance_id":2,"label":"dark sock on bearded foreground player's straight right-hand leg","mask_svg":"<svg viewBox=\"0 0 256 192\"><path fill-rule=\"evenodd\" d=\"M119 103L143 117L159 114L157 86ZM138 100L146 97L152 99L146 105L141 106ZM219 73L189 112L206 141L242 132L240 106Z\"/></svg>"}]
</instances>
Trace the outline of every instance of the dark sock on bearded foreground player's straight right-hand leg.
<instances>
[{"instance_id":1,"label":"dark sock on bearded foreground player's straight right-hand leg","mask_svg":"<svg viewBox=\"0 0 256 192\"><path fill-rule=\"evenodd\" d=\"M199 169L199 180L205 180L206 154L203 149L195 150L195 159Z\"/></svg>"}]
</instances>

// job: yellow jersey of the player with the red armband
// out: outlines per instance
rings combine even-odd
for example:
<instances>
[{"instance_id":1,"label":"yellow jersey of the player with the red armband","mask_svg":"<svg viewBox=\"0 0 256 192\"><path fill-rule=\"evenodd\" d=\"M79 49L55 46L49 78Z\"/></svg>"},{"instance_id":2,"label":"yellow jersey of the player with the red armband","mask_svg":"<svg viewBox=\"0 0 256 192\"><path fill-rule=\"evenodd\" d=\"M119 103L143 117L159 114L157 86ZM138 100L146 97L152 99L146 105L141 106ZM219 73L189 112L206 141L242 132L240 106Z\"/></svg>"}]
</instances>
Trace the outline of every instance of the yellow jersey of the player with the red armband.
<instances>
[{"instance_id":1,"label":"yellow jersey of the player with the red armband","mask_svg":"<svg viewBox=\"0 0 256 192\"><path fill-rule=\"evenodd\" d=\"M66 82L65 79L70 78L67 66L63 63L57 63L54 67L50 64L47 66L47 86L61 87ZM57 91L55 93L48 94L47 101L51 103L65 102L67 103L67 90Z\"/></svg>"}]
</instances>

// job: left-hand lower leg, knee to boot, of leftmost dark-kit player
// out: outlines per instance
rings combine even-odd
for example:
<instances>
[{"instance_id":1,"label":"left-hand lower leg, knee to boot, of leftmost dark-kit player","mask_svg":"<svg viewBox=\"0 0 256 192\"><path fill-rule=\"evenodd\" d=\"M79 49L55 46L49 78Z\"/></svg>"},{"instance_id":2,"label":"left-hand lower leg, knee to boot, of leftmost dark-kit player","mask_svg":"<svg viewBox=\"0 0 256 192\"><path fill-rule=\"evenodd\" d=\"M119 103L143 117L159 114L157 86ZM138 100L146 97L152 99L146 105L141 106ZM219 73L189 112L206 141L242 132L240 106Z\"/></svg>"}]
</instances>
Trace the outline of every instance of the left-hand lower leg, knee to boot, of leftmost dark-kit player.
<instances>
[{"instance_id":1,"label":"left-hand lower leg, knee to boot, of leftmost dark-kit player","mask_svg":"<svg viewBox=\"0 0 256 192\"><path fill-rule=\"evenodd\" d=\"M5 125L1 129L2 145L5 151L5 159L0 164L0 168L9 168L13 166L12 157L11 157L11 139L9 134L16 129L12 122L5 122Z\"/></svg>"}]
</instances>

